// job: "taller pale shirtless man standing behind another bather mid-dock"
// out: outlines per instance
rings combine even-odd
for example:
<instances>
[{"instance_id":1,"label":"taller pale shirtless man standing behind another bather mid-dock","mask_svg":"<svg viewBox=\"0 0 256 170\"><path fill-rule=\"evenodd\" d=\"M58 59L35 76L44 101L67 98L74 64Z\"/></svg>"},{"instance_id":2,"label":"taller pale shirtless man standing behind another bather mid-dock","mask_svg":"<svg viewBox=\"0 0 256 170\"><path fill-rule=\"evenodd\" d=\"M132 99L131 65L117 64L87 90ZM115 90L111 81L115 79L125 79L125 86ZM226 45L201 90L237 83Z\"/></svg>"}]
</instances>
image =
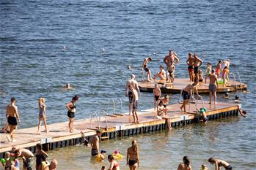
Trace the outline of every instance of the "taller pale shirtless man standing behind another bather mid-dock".
<instances>
[{"instance_id":1,"label":"taller pale shirtless man standing behind another bather mid-dock","mask_svg":"<svg viewBox=\"0 0 256 170\"><path fill-rule=\"evenodd\" d=\"M125 96L128 96L129 98L129 115L131 115L131 105L133 103L133 95L131 90L129 90L129 85L131 85L131 87L136 89L137 93L140 96L139 85L138 85L138 82L135 80L134 74L131 74L131 79L126 82L126 86L125 86Z\"/></svg>"}]
</instances>

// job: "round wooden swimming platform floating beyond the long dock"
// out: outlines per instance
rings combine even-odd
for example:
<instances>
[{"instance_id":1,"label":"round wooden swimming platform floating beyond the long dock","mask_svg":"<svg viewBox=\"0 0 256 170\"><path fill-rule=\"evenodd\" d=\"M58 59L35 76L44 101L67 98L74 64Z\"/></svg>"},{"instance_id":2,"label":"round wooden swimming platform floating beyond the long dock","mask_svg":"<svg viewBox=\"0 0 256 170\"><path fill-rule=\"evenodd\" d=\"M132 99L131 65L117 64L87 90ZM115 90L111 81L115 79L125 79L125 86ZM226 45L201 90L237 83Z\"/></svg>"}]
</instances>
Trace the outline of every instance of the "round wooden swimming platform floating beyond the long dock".
<instances>
[{"instance_id":1,"label":"round wooden swimming platform floating beyond the long dock","mask_svg":"<svg viewBox=\"0 0 256 170\"><path fill-rule=\"evenodd\" d=\"M208 80L209 82L209 80ZM161 88L162 93L180 93L180 91L189 84L189 79L183 78L176 78L175 82L172 84L166 83L163 80L152 80L151 82L141 81L139 82L139 89L145 92L153 92L153 88L155 87L155 83L158 83L159 87ZM235 90L246 90L247 86L244 83L234 82L230 80L229 86L223 87L223 85L219 85L217 93L226 93L226 92L233 92ZM208 83L205 84L204 82L199 82L197 86L198 93L209 93Z\"/></svg>"}]
</instances>

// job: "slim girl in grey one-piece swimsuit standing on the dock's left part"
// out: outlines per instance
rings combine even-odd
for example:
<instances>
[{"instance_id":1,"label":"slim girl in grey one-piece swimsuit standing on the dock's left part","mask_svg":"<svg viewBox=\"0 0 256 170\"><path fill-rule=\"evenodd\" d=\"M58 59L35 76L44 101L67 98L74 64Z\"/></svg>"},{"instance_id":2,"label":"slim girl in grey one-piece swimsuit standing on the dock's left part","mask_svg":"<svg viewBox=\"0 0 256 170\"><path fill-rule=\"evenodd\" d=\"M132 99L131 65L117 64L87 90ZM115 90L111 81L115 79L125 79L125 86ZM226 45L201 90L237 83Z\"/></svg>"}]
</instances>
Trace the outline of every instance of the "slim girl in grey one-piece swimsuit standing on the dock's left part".
<instances>
[{"instance_id":1,"label":"slim girl in grey one-piece swimsuit standing on the dock's left part","mask_svg":"<svg viewBox=\"0 0 256 170\"><path fill-rule=\"evenodd\" d=\"M39 123L38 123L38 130L37 134L40 134L40 127L43 120L43 123L45 124L45 132L48 133L47 124L46 124L46 113L45 113L45 98L39 98L38 99L38 108L39 108Z\"/></svg>"}]
</instances>

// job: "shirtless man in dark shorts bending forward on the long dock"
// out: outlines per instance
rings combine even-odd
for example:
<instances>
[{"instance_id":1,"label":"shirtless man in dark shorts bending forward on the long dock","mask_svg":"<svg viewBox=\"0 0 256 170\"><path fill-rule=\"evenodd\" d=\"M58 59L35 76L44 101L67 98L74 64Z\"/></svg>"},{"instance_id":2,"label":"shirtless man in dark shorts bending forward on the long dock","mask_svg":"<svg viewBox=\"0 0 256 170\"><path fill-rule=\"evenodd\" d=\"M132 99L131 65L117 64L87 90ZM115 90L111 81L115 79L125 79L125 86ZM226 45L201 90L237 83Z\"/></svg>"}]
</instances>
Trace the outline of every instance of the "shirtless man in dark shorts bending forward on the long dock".
<instances>
[{"instance_id":1,"label":"shirtless man in dark shorts bending forward on the long dock","mask_svg":"<svg viewBox=\"0 0 256 170\"><path fill-rule=\"evenodd\" d=\"M189 85L186 86L186 88L183 88L182 90L183 104L180 107L181 112L183 112L183 109L184 109L184 112L186 112L186 104L189 103L190 96L193 96L194 89L197 92L197 96L199 96L197 91L197 82L191 82Z\"/></svg>"}]
</instances>

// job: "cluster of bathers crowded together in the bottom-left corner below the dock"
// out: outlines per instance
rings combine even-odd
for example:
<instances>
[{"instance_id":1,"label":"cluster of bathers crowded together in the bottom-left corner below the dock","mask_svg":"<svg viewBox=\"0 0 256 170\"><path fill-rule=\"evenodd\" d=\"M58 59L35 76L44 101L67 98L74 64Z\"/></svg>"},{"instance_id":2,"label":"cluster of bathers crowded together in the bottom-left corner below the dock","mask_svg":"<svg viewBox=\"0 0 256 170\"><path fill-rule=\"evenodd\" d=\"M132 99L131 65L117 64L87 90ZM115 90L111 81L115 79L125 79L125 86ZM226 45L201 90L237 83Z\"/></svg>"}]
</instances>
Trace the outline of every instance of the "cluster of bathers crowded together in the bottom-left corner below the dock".
<instances>
[{"instance_id":1,"label":"cluster of bathers crowded together in the bottom-left corner below the dock","mask_svg":"<svg viewBox=\"0 0 256 170\"><path fill-rule=\"evenodd\" d=\"M46 161L48 154L43 151L42 144L38 143L36 145L36 152L35 155L25 148L12 147L10 152L4 153L4 158L1 158L2 166L4 166L5 170L19 170L20 163L18 158L22 158L23 161L23 169L32 170L34 158L36 158L35 162L35 169L36 170L56 170L58 166L58 161L53 159L50 162Z\"/></svg>"}]
</instances>

